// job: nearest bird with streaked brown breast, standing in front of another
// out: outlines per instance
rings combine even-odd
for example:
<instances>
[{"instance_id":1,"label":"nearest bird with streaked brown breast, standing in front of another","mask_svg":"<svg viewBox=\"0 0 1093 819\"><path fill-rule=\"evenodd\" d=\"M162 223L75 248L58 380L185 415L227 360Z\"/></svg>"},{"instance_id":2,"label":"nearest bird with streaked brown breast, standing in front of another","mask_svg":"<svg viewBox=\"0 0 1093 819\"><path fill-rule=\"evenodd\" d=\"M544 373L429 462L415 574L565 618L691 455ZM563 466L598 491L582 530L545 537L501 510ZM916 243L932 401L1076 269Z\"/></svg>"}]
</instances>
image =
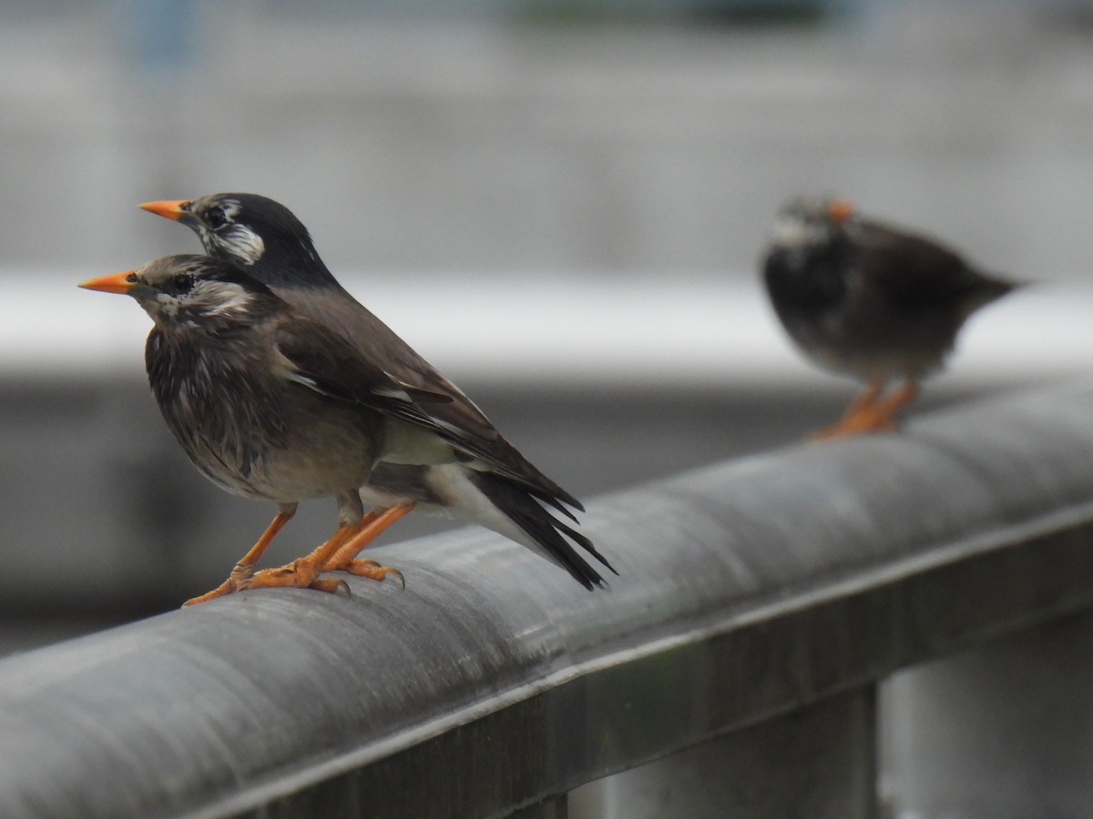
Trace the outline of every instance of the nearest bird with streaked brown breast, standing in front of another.
<instances>
[{"instance_id":1,"label":"nearest bird with streaked brown breast, standing in front of another","mask_svg":"<svg viewBox=\"0 0 1093 819\"><path fill-rule=\"evenodd\" d=\"M356 361L337 333L293 314L228 262L171 256L80 286L132 296L155 322L144 349L149 382L198 470L230 492L278 505L273 522L233 570L228 591L334 591L339 581L319 574L373 523L357 487L400 427L428 424L412 396ZM292 566L254 573L297 503L328 495L338 502L334 535ZM376 580L401 577L371 560L340 568Z\"/></svg>"}]
</instances>

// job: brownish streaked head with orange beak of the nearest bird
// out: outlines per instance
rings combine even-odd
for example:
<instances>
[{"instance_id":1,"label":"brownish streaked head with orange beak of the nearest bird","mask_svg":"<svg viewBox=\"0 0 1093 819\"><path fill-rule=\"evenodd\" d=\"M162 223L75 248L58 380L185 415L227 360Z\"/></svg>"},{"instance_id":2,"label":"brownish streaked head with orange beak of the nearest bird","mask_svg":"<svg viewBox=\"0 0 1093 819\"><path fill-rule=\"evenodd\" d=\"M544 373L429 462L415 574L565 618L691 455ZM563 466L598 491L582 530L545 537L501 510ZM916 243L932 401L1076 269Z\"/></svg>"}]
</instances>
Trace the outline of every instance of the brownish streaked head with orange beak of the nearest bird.
<instances>
[{"instance_id":1,"label":"brownish streaked head with orange beak of the nearest bird","mask_svg":"<svg viewBox=\"0 0 1093 819\"><path fill-rule=\"evenodd\" d=\"M80 286L132 296L157 327L169 331L249 327L280 304L266 285L208 256L165 256Z\"/></svg>"}]
</instances>

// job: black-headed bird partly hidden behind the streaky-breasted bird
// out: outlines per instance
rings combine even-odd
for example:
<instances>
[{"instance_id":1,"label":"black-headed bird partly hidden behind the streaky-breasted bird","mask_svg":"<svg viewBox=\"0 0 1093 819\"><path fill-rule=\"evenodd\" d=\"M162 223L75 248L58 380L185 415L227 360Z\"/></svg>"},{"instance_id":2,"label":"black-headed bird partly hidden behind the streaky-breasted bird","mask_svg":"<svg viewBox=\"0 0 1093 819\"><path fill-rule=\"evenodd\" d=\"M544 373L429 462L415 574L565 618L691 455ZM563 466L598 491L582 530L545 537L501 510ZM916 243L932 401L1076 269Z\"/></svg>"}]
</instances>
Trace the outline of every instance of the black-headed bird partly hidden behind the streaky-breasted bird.
<instances>
[{"instance_id":1,"label":"black-headed bird partly hidden behind the streaky-breasted bird","mask_svg":"<svg viewBox=\"0 0 1093 819\"><path fill-rule=\"evenodd\" d=\"M191 227L211 257L266 285L298 321L342 339L339 381L356 378L350 372L354 367L383 373L423 416L402 419L408 423L398 425L362 480L364 502L381 511L372 513L374 523L351 537L328 569L342 568L379 531L420 506L446 509L498 532L566 569L586 589L602 586L603 578L573 544L615 571L587 537L545 508L576 522L566 508L584 511L576 498L536 468L459 388L338 283L307 229L284 205L250 193L220 193L141 207Z\"/></svg>"}]
</instances>

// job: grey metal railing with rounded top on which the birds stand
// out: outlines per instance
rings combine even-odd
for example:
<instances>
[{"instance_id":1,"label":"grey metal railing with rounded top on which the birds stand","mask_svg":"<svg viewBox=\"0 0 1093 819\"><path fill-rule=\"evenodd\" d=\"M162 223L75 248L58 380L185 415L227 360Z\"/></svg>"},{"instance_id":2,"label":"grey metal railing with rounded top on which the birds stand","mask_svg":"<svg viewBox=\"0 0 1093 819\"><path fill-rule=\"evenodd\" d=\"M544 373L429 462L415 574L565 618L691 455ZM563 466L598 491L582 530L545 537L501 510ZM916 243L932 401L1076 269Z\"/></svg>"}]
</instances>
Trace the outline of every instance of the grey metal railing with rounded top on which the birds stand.
<instances>
[{"instance_id":1,"label":"grey metal railing with rounded top on which the birds stand","mask_svg":"<svg viewBox=\"0 0 1093 819\"><path fill-rule=\"evenodd\" d=\"M608 592L462 530L383 550L404 591L4 660L0 816L563 817L638 765L603 815L873 816L879 681L1093 606L1093 384L603 497L585 530Z\"/></svg>"}]
</instances>

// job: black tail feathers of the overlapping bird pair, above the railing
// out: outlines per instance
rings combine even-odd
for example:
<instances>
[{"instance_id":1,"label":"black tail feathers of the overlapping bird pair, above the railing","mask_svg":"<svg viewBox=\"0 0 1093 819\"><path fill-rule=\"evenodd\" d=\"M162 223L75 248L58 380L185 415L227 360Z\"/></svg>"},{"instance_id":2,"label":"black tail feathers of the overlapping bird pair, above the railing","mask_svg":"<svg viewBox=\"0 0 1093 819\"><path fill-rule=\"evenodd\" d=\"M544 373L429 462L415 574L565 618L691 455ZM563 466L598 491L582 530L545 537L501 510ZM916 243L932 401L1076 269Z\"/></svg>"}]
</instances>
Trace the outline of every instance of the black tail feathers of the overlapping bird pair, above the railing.
<instances>
[{"instance_id":1,"label":"black tail feathers of the overlapping bird pair, above the railing","mask_svg":"<svg viewBox=\"0 0 1093 819\"><path fill-rule=\"evenodd\" d=\"M615 574L619 573L607 561L607 558L596 550L591 541L554 518L546 509L539 505L527 488L487 472L473 473L473 480L479 489L482 490L482 494L497 509L508 515L532 541L556 558L566 571L588 591L592 591L596 586L603 589L606 585L603 578L596 569L588 565L573 547L573 544L562 536L563 534L588 551L589 555L603 563L612 572ZM544 500L552 507L562 509L557 499L544 498ZM568 510L562 509L562 511L569 514L571 518L573 517Z\"/></svg>"}]
</instances>

